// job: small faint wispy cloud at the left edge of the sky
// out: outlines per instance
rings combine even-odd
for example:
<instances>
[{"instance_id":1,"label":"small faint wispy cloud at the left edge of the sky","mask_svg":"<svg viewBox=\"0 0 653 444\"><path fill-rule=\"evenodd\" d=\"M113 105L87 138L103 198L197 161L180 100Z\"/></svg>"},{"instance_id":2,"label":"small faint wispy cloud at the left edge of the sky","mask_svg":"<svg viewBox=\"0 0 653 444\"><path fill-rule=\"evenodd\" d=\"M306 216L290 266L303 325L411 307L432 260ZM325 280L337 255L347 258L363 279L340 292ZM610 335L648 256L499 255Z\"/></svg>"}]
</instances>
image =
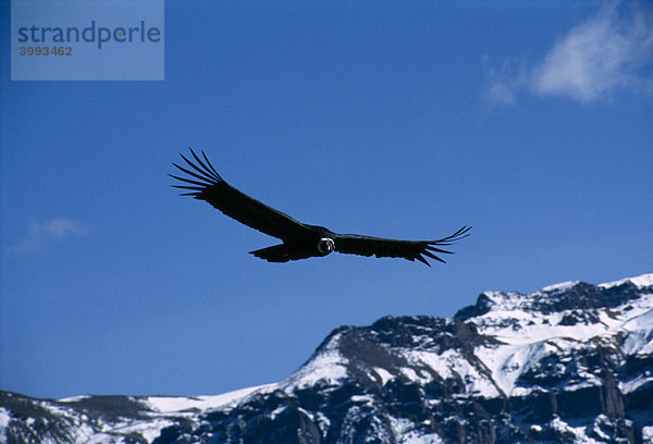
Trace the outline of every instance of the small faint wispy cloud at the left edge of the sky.
<instances>
[{"instance_id":1,"label":"small faint wispy cloud at the left edge of the sky","mask_svg":"<svg viewBox=\"0 0 653 444\"><path fill-rule=\"evenodd\" d=\"M71 237L85 237L88 225L69 218L53 218L46 221L33 219L27 224L25 234L9 247L11 252L28 254L41 250L52 243L63 242Z\"/></svg>"}]
</instances>

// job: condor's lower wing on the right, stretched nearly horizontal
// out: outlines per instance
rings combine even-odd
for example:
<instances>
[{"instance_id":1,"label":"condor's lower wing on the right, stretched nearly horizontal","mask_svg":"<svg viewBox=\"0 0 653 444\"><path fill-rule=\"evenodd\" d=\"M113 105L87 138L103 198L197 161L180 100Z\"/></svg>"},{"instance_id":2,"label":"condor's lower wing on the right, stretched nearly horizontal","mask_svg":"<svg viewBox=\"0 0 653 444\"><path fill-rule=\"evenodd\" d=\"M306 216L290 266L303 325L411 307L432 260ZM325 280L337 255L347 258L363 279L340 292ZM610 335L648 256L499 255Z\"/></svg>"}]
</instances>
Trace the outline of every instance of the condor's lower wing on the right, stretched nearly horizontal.
<instances>
[{"instance_id":1,"label":"condor's lower wing on the right, stretched nearly horizontal","mask_svg":"<svg viewBox=\"0 0 653 444\"><path fill-rule=\"evenodd\" d=\"M435 254L449 255L440 247L446 247L454 242L469 236L471 226L463 226L451 236L436 240L395 240L382 237L360 236L358 234L338 234L334 239L335 250L349 255L375 256L378 258L404 258L419 260L431 267L424 256L444 262Z\"/></svg>"}]
</instances>

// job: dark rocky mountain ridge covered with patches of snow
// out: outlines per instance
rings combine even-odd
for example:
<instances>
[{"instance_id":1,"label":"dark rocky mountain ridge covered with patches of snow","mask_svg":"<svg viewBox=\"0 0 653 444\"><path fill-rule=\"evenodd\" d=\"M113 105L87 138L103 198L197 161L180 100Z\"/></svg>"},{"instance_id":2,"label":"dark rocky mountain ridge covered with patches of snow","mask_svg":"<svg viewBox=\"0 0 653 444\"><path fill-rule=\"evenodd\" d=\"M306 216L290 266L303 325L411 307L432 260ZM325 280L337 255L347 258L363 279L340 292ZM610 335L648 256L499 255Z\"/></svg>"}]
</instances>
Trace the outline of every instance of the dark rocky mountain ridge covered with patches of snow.
<instances>
[{"instance_id":1,"label":"dark rocky mountain ridge covered with patches of snow","mask_svg":"<svg viewBox=\"0 0 653 444\"><path fill-rule=\"evenodd\" d=\"M0 392L0 443L653 443L653 274L341 326L219 396Z\"/></svg>"}]
</instances>

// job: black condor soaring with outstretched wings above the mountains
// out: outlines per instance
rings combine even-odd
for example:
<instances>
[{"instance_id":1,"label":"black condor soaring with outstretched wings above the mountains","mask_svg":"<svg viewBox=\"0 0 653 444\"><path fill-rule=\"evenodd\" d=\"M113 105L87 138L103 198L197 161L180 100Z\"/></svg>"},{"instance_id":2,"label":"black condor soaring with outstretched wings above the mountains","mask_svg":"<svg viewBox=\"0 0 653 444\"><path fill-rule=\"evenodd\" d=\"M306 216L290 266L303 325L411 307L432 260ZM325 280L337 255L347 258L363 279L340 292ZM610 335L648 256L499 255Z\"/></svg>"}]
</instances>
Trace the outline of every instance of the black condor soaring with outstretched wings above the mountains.
<instances>
[{"instance_id":1,"label":"black condor soaring with outstretched wings above the mountains","mask_svg":"<svg viewBox=\"0 0 653 444\"><path fill-rule=\"evenodd\" d=\"M195 162L181 155L186 165L172 163L188 175L188 177L180 177L169 174L184 183L173 186L189 190L182 196L193 196L195 199L206 200L230 218L261 233L280 238L282 244L249 251L257 258L269 262L322 257L337 251L348 255L375 256L377 258L404 258L410 261L417 259L431 267L424 256L444 262L436 254L451 254L452 251L441 247L467 237L471 230L471 226L463 226L451 236L435 240L398 240L359 234L333 233L323 226L298 222L237 190L218 174L204 151L201 152L204 160L193 149L190 149L190 153Z\"/></svg>"}]
</instances>

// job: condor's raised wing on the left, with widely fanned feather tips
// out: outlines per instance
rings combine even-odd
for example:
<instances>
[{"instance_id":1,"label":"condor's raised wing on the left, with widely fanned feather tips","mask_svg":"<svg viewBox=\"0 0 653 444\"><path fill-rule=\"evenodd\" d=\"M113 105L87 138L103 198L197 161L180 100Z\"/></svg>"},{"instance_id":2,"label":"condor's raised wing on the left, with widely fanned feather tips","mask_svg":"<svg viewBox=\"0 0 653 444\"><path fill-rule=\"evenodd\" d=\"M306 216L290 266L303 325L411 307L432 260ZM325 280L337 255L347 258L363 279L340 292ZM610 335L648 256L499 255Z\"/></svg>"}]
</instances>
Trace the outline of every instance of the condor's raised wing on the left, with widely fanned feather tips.
<instances>
[{"instance_id":1,"label":"condor's raised wing on the left, with widely fanned feather tips","mask_svg":"<svg viewBox=\"0 0 653 444\"><path fill-rule=\"evenodd\" d=\"M188 168L180 166L174 162L172 164L193 178L169 174L185 183L185 185L173 185L175 188L190 190L182 196L206 200L230 218L281 239L296 236L308 230L306 225L289 215L268 207L224 182L204 151L201 152L204 161L195 151L190 150L190 153L196 163L181 155Z\"/></svg>"}]
</instances>

